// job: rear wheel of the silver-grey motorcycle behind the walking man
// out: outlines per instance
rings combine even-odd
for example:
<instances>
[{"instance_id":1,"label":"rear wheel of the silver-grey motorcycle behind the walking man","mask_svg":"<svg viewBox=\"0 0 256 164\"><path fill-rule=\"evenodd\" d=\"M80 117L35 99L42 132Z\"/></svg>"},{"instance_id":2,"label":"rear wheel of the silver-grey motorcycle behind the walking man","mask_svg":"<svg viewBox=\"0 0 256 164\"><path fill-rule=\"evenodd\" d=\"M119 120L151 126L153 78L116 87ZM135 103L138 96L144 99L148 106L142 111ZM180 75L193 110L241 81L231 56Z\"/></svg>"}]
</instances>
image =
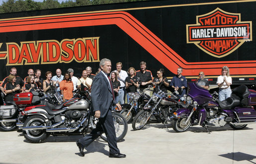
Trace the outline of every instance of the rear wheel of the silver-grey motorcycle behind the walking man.
<instances>
[{"instance_id":1,"label":"rear wheel of the silver-grey motorcycle behind the walking man","mask_svg":"<svg viewBox=\"0 0 256 164\"><path fill-rule=\"evenodd\" d=\"M24 122L23 127L28 126L46 126L45 118L40 115L33 115L28 117ZM31 143L41 143L49 134L43 130L23 130L24 137Z\"/></svg>"}]
</instances>

